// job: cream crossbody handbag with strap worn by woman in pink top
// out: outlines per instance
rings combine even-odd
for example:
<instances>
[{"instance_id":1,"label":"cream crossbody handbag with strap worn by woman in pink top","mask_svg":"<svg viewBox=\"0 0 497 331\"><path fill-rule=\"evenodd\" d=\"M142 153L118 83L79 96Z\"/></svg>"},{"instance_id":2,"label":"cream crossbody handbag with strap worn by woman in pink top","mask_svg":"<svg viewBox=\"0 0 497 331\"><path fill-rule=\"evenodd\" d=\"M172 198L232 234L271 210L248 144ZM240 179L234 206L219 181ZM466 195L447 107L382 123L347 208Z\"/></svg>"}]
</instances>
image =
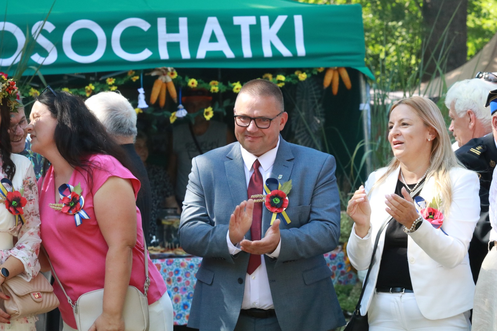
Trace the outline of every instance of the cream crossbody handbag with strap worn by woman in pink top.
<instances>
[{"instance_id":1,"label":"cream crossbody handbag with strap worn by woman in pink top","mask_svg":"<svg viewBox=\"0 0 497 331\"><path fill-rule=\"evenodd\" d=\"M136 287L128 285L126 298L123 307L124 331L149 331L149 303L147 300L147 292L149 291L149 264L148 264L148 249L143 237L144 253L145 253L145 284L144 293L140 292ZM47 254L48 257L48 254ZM48 259L50 262L50 259ZM62 287L54 267L52 273L59 283L62 291L67 297L69 304L73 307L74 318L79 331L88 331L95 320L102 314L103 306L103 288L90 292L83 293L78 300L73 303L67 295L66 290Z\"/></svg>"}]
</instances>

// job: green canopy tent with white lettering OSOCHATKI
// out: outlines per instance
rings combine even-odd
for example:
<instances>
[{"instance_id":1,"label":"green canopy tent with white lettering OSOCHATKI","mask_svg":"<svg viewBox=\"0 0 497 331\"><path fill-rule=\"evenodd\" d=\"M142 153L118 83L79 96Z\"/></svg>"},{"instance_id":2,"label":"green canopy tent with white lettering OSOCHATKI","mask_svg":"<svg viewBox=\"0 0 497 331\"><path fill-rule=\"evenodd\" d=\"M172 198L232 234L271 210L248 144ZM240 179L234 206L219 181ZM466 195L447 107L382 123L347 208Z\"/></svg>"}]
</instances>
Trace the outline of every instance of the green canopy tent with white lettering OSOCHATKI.
<instances>
[{"instance_id":1,"label":"green canopy tent with white lettering OSOCHATKI","mask_svg":"<svg viewBox=\"0 0 497 331\"><path fill-rule=\"evenodd\" d=\"M7 1L0 68L19 62L28 33L36 38L28 66L39 66L44 75L159 66L345 66L373 78L364 65L358 4L56 0L43 23L51 5L51 0Z\"/></svg>"}]
</instances>

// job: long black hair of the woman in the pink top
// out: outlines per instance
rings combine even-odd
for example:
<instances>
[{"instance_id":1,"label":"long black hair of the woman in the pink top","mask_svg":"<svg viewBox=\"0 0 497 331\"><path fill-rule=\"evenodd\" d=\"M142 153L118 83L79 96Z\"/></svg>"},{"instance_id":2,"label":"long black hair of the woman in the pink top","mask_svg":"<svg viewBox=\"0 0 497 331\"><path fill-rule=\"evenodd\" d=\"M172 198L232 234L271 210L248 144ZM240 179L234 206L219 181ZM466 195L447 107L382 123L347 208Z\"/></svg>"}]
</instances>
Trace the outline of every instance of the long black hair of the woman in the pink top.
<instances>
[{"instance_id":1,"label":"long black hair of the woman in the pink top","mask_svg":"<svg viewBox=\"0 0 497 331\"><path fill-rule=\"evenodd\" d=\"M52 117L57 119L54 140L59 153L73 167L80 167L89 173L88 185L93 185L92 168L97 165L88 161L92 154L107 154L115 157L137 177L138 174L126 156L124 149L105 131L105 127L89 111L81 97L56 90L42 93L37 100L47 106ZM45 160L43 173L48 162ZM106 169L101 169L106 170Z\"/></svg>"}]
</instances>

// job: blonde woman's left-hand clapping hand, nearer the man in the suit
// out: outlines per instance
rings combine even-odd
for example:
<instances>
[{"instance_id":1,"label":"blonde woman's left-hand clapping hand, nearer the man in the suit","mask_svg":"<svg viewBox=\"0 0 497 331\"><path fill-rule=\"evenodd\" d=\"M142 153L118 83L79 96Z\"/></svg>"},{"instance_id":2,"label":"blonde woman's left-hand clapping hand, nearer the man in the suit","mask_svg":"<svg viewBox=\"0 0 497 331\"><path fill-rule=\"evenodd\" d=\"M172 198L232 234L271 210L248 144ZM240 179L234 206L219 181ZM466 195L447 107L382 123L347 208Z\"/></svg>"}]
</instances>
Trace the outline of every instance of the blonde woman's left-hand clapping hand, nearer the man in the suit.
<instances>
[{"instance_id":1,"label":"blonde woman's left-hand clapping hand, nearer the man in the suit","mask_svg":"<svg viewBox=\"0 0 497 331\"><path fill-rule=\"evenodd\" d=\"M369 230L371 206L364 186L361 185L350 200L348 200L347 214L355 223L355 233L364 238Z\"/></svg>"}]
</instances>

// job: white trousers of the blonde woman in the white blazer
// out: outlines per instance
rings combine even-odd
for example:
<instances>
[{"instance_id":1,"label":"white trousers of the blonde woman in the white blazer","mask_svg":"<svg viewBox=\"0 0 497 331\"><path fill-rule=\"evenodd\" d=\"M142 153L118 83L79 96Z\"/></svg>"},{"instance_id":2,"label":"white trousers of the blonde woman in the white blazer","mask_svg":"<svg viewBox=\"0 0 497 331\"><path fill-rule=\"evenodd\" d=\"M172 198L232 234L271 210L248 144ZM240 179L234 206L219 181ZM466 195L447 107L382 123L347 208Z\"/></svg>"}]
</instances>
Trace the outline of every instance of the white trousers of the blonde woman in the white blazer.
<instances>
[{"instance_id":1,"label":"white trousers of the blonde woman in the white blazer","mask_svg":"<svg viewBox=\"0 0 497 331\"><path fill-rule=\"evenodd\" d=\"M441 320L428 320L417 307L414 293L373 295L368 309L369 331L470 331L469 311Z\"/></svg>"}]
</instances>

